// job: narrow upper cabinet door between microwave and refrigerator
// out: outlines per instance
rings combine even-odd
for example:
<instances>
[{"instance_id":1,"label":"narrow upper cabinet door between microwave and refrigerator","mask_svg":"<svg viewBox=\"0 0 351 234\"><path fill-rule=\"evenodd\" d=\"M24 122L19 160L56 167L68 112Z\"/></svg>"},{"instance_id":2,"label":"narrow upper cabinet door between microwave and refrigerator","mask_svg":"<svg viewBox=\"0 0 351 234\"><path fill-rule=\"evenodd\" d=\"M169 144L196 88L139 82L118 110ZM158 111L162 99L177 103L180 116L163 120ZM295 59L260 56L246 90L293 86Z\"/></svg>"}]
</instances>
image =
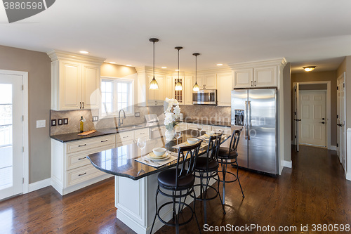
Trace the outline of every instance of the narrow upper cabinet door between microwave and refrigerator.
<instances>
[{"instance_id":1,"label":"narrow upper cabinet door between microwave and refrigerator","mask_svg":"<svg viewBox=\"0 0 351 234\"><path fill-rule=\"evenodd\" d=\"M217 74L218 105L230 106L230 93L232 92L232 74Z\"/></svg>"}]
</instances>

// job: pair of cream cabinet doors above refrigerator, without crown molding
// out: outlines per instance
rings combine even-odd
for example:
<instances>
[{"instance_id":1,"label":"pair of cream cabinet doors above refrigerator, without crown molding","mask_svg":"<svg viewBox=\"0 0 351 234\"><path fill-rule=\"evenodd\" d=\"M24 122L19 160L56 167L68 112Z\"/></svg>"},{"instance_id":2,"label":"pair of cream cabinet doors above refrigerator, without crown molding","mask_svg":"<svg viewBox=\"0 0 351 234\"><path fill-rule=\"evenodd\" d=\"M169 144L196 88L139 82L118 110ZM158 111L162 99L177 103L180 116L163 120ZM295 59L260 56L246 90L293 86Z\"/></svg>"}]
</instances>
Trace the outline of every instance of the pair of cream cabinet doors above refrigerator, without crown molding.
<instances>
[{"instance_id":1,"label":"pair of cream cabinet doors above refrigerator, without crown molding","mask_svg":"<svg viewBox=\"0 0 351 234\"><path fill-rule=\"evenodd\" d=\"M234 70L234 88L277 86L277 66Z\"/></svg>"}]
</instances>

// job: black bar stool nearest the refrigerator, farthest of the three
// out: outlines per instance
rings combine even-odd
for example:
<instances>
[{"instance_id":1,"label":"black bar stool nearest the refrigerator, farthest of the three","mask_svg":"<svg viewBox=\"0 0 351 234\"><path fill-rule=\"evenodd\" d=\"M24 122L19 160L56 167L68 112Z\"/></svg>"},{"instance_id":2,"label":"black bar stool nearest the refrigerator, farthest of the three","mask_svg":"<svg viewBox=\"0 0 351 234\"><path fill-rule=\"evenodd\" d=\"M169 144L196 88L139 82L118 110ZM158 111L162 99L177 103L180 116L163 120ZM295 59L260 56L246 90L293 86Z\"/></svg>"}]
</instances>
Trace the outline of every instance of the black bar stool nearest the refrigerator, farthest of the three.
<instances>
[{"instance_id":1,"label":"black bar stool nearest the refrigerator, farthest of the three","mask_svg":"<svg viewBox=\"0 0 351 234\"><path fill-rule=\"evenodd\" d=\"M223 204L225 204L225 183L232 183L234 181L238 181L241 189L242 197L245 197L244 192L242 191L241 183L239 181L239 176L238 176L239 165L237 162L237 157L238 157L237 146L239 143L240 134L241 134L241 130L234 130L232 133L232 138L230 139L230 148L220 147L219 153L218 153L218 159L220 162L220 166L222 167L222 171L218 171L218 172L222 172L223 174L223 180L220 181L223 183ZM230 162L228 162L229 160ZM227 171L228 164L232 164L233 166L236 164L237 174ZM234 176L234 179L231 181L226 181L225 180L226 174L231 174L232 176Z\"/></svg>"}]
</instances>

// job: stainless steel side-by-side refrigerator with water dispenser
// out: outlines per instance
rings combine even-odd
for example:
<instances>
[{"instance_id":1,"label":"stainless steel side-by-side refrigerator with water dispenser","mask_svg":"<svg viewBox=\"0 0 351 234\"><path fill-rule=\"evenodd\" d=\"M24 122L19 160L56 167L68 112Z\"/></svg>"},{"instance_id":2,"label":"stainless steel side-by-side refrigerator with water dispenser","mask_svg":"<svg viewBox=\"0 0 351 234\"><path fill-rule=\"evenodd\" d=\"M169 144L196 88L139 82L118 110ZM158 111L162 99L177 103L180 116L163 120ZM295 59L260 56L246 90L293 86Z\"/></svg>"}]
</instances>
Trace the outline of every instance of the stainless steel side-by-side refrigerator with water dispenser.
<instances>
[{"instance_id":1,"label":"stainless steel side-by-side refrigerator with water dispenser","mask_svg":"<svg viewBox=\"0 0 351 234\"><path fill-rule=\"evenodd\" d=\"M242 129L237 148L239 167L278 174L277 89L234 89L234 129Z\"/></svg>"}]
</instances>

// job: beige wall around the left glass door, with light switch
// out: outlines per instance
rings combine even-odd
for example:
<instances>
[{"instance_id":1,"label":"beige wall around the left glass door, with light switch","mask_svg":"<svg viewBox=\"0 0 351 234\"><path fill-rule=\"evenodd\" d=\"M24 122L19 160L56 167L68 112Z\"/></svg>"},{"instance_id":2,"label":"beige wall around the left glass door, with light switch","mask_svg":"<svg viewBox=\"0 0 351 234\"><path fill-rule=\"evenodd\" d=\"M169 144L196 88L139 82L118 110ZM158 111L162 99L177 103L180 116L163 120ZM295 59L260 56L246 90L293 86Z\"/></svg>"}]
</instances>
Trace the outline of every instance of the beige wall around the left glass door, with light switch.
<instances>
[{"instance_id":1,"label":"beige wall around the left glass door, with light switch","mask_svg":"<svg viewBox=\"0 0 351 234\"><path fill-rule=\"evenodd\" d=\"M46 53L0 46L0 69L28 72L29 183L50 178L51 65ZM37 129L37 120L46 127Z\"/></svg>"}]
</instances>

